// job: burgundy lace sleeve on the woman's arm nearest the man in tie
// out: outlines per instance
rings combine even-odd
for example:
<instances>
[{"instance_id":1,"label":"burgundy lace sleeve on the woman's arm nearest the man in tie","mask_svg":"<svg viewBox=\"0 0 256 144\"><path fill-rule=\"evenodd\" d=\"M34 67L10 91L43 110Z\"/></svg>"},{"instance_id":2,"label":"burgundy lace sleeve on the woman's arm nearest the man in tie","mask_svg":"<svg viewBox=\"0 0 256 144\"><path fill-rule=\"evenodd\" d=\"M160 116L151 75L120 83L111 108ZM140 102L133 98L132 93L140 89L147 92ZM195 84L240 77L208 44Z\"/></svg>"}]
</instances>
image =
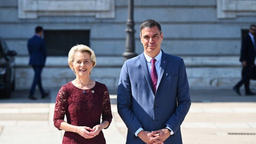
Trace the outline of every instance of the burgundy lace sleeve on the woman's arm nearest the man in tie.
<instances>
[{"instance_id":1,"label":"burgundy lace sleeve on the woman's arm nearest the man in tie","mask_svg":"<svg viewBox=\"0 0 256 144\"><path fill-rule=\"evenodd\" d=\"M104 92L104 95L103 95L103 103L102 103L102 121L108 121L110 125L113 116L111 113L110 98L109 98L109 92L108 92L107 86L105 86L103 92ZM108 126L105 127L105 129L108 129Z\"/></svg>"}]
</instances>

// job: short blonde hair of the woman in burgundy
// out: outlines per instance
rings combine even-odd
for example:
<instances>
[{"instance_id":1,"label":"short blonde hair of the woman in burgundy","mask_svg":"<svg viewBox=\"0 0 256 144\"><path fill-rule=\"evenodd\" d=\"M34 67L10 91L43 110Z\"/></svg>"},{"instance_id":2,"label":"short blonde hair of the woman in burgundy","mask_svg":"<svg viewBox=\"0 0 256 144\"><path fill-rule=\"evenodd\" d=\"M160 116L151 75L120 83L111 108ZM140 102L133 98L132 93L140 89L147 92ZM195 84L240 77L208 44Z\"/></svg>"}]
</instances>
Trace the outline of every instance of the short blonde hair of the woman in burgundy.
<instances>
[{"instance_id":1,"label":"short blonde hair of the woman in burgundy","mask_svg":"<svg viewBox=\"0 0 256 144\"><path fill-rule=\"evenodd\" d=\"M74 55L77 52L87 52L87 53L89 53L91 55L92 67L94 67L96 65L96 57L95 57L94 51L86 45L79 44L79 45L73 46L70 49L69 53L68 53L68 65L69 65L71 70L73 70L75 72L75 70L72 67L72 63L74 62ZM76 72L75 72L75 74L76 74Z\"/></svg>"}]
</instances>

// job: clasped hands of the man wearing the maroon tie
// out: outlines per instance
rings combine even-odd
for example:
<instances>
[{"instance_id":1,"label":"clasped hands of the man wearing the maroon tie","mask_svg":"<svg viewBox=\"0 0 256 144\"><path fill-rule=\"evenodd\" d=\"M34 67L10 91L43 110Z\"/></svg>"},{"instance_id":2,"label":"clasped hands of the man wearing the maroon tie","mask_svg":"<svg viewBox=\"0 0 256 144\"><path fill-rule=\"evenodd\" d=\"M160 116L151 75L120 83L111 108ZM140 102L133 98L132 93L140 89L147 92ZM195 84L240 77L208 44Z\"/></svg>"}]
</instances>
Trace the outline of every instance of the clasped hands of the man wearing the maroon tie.
<instances>
[{"instance_id":1,"label":"clasped hands of the man wearing the maroon tie","mask_svg":"<svg viewBox=\"0 0 256 144\"><path fill-rule=\"evenodd\" d=\"M150 139L150 142L155 143L161 143L163 144L164 141L170 137L171 133L169 130L165 129L161 129L161 130L157 130L157 131L153 131L151 132L151 134L153 134L154 138Z\"/></svg>"}]
</instances>

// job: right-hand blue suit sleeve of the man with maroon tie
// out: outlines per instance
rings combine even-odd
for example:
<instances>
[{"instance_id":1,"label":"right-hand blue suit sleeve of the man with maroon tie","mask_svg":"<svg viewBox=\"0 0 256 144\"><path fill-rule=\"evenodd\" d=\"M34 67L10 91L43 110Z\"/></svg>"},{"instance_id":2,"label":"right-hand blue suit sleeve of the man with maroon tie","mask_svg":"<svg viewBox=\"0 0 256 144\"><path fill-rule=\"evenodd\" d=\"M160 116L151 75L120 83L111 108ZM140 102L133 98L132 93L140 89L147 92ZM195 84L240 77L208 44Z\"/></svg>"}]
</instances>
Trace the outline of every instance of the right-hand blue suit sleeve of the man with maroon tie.
<instances>
[{"instance_id":1,"label":"right-hand blue suit sleeve of the man with maroon tie","mask_svg":"<svg viewBox=\"0 0 256 144\"><path fill-rule=\"evenodd\" d=\"M166 125L175 133L184 121L191 105L188 78L184 61L180 62L177 84L177 108L167 120Z\"/></svg>"}]
</instances>

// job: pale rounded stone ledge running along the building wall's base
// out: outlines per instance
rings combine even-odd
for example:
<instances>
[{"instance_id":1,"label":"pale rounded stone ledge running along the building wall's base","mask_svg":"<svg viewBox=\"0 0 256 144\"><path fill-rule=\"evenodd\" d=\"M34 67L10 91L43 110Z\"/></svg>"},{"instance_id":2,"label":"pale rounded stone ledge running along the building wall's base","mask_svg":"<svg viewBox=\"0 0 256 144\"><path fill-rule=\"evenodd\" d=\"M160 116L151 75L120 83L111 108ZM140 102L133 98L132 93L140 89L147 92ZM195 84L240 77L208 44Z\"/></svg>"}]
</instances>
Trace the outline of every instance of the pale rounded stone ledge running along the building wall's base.
<instances>
[{"instance_id":1,"label":"pale rounded stone ledge running along the building wall's base","mask_svg":"<svg viewBox=\"0 0 256 144\"><path fill-rule=\"evenodd\" d=\"M181 57L186 67L240 67L239 57L237 55L191 55ZM17 57L15 59L16 67L28 67L28 57ZM97 68L121 68L124 63L123 57L97 57ZM66 57L48 57L46 67L67 67Z\"/></svg>"}]
</instances>

